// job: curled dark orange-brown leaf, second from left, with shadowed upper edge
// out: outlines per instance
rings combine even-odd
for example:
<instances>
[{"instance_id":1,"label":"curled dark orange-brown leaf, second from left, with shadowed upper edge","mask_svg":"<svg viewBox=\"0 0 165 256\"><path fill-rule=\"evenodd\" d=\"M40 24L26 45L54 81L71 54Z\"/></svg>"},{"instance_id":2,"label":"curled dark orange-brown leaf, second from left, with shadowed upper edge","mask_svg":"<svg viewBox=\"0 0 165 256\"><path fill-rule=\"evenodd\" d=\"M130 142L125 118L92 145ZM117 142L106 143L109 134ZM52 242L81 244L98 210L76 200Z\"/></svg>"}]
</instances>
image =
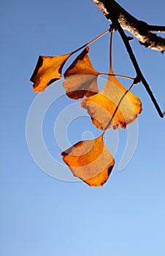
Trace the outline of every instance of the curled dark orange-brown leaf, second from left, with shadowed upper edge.
<instances>
[{"instance_id":1,"label":"curled dark orange-brown leaf, second from left, with shadowed upper edge","mask_svg":"<svg viewBox=\"0 0 165 256\"><path fill-rule=\"evenodd\" d=\"M93 68L88 51L88 47L82 50L82 53L64 73L63 86L66 89L66 95L71 99L90 97L98 93L97 77L99 72Z\"/></svg>"}]
</instances>

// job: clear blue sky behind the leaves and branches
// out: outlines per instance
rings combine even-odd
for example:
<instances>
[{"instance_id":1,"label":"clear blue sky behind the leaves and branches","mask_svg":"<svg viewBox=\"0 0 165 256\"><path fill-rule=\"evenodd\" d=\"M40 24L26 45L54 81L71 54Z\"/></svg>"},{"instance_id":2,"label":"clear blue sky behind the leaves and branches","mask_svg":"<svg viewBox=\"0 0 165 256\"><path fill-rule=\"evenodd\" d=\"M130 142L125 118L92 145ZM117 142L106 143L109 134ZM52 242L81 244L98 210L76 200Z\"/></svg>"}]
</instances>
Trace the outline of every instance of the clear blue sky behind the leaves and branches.
<instances>
[{"instance_id":1,"label":"clear blue sky behind the leaves and branches","mask_svg":"<svg viewBox=\"0 0 165 256\"><path fill-rule=\"evenodd\" d=\"M118 3L139 20L165 25L164 0ZM108 29L109 22L90 0L2 0L0 9L0 255L165 255L165 121L142 84L133 90L143 106L134 157L124 170L118 170L126 148L126 131L119 129L116 165L104 187L47 175L34 162L26 143L26 117L37 97L29 78L38 56L69 53ZM108 45L109 35L91 45L93 66L101 72L108 71ZM145 49L136 39L131 45L164 110L165 56ZM134 76L117 33L113 49L114 71ZM50 87L62 88L60 83ZM54 127L58 115L71 103L61 97L47 110L43 122L47 150L61 165ZM33 125L35 131L35 122ZM100 134L87 117L73 118L67 128L59 128L58 134L66 132L64 138L67 135L71 145L88 130L95 137ZM60 173L61 168L55 172Z\"/></svg>"}]
</instances>

